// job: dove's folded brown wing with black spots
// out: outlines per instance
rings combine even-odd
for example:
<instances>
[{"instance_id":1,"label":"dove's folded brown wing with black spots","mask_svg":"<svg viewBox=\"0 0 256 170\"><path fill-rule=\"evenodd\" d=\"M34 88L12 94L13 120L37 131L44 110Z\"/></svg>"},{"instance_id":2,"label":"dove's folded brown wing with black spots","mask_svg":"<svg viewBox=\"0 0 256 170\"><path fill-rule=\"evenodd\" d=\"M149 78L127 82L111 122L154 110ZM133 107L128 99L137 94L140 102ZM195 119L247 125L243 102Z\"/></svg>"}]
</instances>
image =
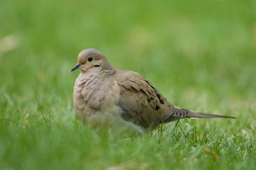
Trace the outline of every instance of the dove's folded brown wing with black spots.
<instances>
[{"instance_id":1,"label":"dove's folded brown wing with black spots","mask_svg":"<svg viewBox=\"0 0 256 170\"><path fill-rule=\"evenodd\" d=\"M124 111L125 120L137 122L143 127L156 127L161 122L170 122L186 117L183 110L168 103L166 99L140 74L132 71L117 71L115 80L120 88L118 105ZM172 117L172 118L171 118Z\"/></svg>"}]
</instances>

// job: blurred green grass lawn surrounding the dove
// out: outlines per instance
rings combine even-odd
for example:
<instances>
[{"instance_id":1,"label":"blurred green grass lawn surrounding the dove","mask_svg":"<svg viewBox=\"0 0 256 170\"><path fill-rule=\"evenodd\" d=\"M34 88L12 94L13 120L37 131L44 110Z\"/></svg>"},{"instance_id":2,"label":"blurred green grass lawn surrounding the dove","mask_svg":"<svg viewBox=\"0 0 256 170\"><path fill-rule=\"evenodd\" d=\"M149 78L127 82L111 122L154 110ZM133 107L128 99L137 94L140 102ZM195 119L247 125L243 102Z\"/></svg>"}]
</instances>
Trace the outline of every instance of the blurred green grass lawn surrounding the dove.
<instances>
[{"instance_id":1,"label":"blurred green grass lawn surrounding the dove","mask_svg":"<svg viewBox=\"0 0 256 170\"><path fill-rule=\"evenodd\" d=\"M0 1L0 169L255 169L255 6ZM184 119L143 137L95 131L72 106L84 48L177 106L237 119Z\"/></svg>"}]
</instances>

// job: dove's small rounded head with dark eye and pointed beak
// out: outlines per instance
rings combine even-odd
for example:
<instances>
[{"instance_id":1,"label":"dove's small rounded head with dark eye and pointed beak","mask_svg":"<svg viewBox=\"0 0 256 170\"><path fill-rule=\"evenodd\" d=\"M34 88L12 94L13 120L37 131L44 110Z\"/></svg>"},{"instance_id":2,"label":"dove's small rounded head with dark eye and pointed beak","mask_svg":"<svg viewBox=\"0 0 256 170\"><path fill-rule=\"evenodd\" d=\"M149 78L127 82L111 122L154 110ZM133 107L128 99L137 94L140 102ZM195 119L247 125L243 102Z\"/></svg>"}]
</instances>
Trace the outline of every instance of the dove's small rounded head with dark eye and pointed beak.
<instances>
[{"instance_id":1,"label":"dove's small rounded head with dark eye and pointed beak","mask_svg":"<svg viewBox=\"0 0 256 170\"><path fill-rule=\"evenodd\" d=\"M71 69L71 71L74 71L78 68L81 69L81 71L84 73L88 71L96 72L102 69L113 69L105 55L102 52L93 48L88 48L78 54L77 64Z\"/></svg>"}]
</instances>

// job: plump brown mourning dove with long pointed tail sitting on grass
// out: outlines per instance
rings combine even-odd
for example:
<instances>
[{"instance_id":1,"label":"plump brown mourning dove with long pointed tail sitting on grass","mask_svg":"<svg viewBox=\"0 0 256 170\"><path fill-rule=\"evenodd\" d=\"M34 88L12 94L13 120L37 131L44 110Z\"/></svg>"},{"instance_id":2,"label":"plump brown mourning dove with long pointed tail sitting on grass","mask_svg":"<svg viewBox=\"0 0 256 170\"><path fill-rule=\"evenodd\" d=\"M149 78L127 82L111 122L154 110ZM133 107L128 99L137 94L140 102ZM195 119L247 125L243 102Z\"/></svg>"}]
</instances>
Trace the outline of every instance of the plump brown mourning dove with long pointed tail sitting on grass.
<instances>
[{"instance_id":1,"label":"plump brown mourning dove with long pointed tail sitting on grass","mask_svg":"<svg viewBox=\"0 0 256 170\"><path fill-rule=\"evenodd\" d=\"M81 69L74 85L74 108L83 122L118 125L143 133L180 118L234 118L179 108L140 74L115 69L102 52L79 53L71 71Z\"/></svg>"}]
</instances>

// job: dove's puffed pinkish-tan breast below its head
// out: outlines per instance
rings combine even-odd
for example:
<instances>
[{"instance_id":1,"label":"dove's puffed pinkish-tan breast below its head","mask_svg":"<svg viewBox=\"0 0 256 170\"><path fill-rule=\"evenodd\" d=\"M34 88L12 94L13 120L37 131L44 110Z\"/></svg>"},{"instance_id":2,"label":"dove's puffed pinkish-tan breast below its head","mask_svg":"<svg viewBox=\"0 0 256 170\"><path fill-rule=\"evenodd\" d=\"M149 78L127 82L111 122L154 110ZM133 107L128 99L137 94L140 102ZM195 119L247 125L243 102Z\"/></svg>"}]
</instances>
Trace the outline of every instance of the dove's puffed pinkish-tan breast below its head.
<instances>
[{"instance_id":1,"label":"dove's puffed pinkish-tan breast below its head","mask_svg":"<svg viewBox=\"0 0 256 170\"><path fill-rule=\"evenodd\" d=\"M115 79L104 74L80 74L74 86L74 107L77 114L117 111L120 90Z\"/></svg>"}]
</instances>

